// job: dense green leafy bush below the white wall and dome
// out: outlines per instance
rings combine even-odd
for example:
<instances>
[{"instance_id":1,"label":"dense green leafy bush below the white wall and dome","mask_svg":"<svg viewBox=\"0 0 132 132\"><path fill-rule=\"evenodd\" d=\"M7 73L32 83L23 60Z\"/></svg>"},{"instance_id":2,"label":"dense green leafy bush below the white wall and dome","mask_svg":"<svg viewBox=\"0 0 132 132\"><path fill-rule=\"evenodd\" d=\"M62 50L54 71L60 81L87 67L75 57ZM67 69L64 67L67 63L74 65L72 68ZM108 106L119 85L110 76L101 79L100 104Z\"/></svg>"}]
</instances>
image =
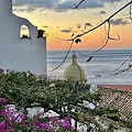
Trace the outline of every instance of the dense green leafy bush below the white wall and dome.
<instances>
[{"instance_id":1,"label":"dense green leafy bush below the white wall and dome","mask_svg":"<svg viewBox=\"0 0 132 132\"><path fill-rule=\"evenodd\" d=\"M10 128L21 128L26 129L22 131L28 131L31 129L31 131L35 131L34 127L40 128L40 124L44 124L41 128L44 127L51 127L51 120L54 120L56 122L55 128L62 128L64 124L62 124L62 121L67 121L68 117L72 119L79 121L82 124L86 124L87 128L90 131L92 128L96 128L96 131L101 132L102 128L96 120L96 117L100 117L105 113L114 113L117 110L113 109L113 107L100 107L99 102L100 100L100 94L94 92L91 94L89 91L90 86L86 84L79 82L76 87L75 81L62 81L62 80L51 80L48 78L41 79L37 76L34 76L30 72L14 72L14 70L7 70L3 73L3 70L0 72L0 98L4 100L7 99L7 106L8 105L14 105L15 109L19 111L21 117L24 117L25 123L11 123L9 122ZM90 109L89 107L86 107L84 105L85 102L92 103L95 107L94 109ZM44 112L47 112L50 110L55 111L59 114L59 121L61 124L57 124L59 121L56 119L46 119L42 118L38 119L40 123L36 123L37 116L34 118L28 117L28 108L36 108L41 107L44 109ZM0 111L2 113L1 124L0 125L8 125L7 118L2 119L7 116L2 110L2 107L0 108ZM81 113L81 118L80 118ZM13 117L12 114L10 114ZM85 116L85 117L84 117ZM67 117L67 118L66 118ZM90 117L89 120L88 117ZM14 120L13 118L11 118ZM80 120L81 119L81 120ZM46 120L46 122L45 122ZM68 120L69 121L69 120ZM12 121L13 122L13 121ZM14 121L15 122L15 121ZM32 122L32 123L29 123ZM34 123L35 122L35 123ZM4 124L3 124L4 123ZM66 131L72 131L72 125L68 124L63 128L66 129ZM47 125L48 124L48 125ZM57 125L57 127L56 127ZM7 128L9 128L7 127ZM12 128L12 129L13 129ZM53 129L53 128L52 128ZM59 130L58 129L58 130ZM10 130L11 131L11 130ZM36 131L43 131L41 129L37 129ZM52 130L50 130L52 131ZM76 128L75 128L76 131ZM62 131L63 132L63 131Z\"/></svg>"}]
</instances>

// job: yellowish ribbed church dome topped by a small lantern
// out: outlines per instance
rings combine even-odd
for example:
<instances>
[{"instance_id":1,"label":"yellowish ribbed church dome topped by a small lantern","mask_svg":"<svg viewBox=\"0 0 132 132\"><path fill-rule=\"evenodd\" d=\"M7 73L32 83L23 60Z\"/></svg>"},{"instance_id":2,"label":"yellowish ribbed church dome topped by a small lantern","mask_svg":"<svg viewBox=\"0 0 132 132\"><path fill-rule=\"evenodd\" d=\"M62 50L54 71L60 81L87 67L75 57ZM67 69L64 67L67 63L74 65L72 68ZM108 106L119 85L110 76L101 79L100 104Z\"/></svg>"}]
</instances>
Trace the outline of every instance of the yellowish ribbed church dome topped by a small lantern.
<instances>
[{"instance_id":1,"label":"yellowish ribbed church dome topped by a small lantern","mask_svg":"<svg viewBox=\"0 0 132 132\"><path fill-rule=\"evenodd\" d=\"M77 64L77 57L75 54L72 56L72 64L69 64L63 73L63 80L68 80L68 79L75 81L87 80L84 69L81 68L81 66Z\"/></svg>"}]
</instances>

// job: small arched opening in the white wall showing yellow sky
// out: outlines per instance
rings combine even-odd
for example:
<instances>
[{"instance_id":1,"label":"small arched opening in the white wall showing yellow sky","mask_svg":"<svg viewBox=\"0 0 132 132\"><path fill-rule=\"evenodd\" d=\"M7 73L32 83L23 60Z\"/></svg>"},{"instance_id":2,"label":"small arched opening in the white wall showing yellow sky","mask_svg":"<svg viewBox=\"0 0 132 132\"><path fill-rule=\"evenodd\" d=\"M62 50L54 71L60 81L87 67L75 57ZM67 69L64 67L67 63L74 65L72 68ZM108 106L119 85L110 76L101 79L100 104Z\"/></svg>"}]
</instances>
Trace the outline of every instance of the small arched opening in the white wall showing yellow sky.
<instances>
[{"instance_id":1,"label":"small arched opening in the white wall showing yellow sky","mask_svg":"<svg viewBox=\"0 0 132 132\"><path fill-rule=\"evenodd\" d=\"M30 29L28 25L23 24L20 29L21 38L30 38Z\"/></svg>"}]
</instances>

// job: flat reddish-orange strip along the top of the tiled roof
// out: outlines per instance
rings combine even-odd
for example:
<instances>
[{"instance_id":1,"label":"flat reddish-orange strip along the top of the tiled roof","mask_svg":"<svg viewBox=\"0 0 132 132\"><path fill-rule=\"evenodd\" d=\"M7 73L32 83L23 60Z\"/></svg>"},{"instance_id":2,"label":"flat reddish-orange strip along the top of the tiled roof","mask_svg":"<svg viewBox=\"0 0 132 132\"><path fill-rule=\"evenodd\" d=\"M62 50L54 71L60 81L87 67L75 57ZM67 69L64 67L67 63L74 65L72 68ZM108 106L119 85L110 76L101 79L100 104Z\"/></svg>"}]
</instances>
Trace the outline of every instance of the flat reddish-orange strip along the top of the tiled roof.
<instances>
[{"instance_id":1,"label":"flat reddish-orange strip along the top of the tiled roof","mask_svg":"<svg viewBox=\"0 0 132 132\"><path fill-rule=\"evenodd\" d=\"M132 85L98 85L98 87L112 88L132 92Z\"/></svg>"}]
</instances>

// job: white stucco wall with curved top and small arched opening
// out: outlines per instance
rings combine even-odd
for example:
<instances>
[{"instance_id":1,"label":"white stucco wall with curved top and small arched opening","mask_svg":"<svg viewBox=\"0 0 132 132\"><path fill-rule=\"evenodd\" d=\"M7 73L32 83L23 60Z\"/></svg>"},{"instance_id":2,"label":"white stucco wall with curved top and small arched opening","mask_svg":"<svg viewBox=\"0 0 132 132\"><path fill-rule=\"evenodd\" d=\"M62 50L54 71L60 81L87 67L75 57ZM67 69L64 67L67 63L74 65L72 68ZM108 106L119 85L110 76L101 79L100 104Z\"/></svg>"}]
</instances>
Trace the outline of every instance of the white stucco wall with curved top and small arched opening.
<instances>
[{"instance_id":1,"label":"white stucco wall with curved top and small arched opening","mask_svg":"<svg viewBox=\"0 0 132 132\"><path fill-rule=\"evenodd\" d=\"M20 38L25 24L31 38ZM12 0L0 0L0 67L46 75L46 38L37 38L37 28L12 13Z\"/></svg>"}]
</instances>

